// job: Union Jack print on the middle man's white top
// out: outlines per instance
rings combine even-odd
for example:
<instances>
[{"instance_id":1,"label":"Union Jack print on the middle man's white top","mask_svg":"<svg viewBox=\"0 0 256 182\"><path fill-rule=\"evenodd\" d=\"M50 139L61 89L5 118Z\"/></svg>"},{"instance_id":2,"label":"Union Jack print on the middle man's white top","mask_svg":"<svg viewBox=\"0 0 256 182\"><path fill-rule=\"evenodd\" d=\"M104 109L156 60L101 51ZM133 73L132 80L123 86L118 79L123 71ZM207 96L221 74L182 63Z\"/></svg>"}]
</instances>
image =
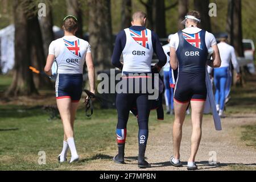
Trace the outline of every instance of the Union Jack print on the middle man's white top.
<instances>
[{"instance_id":1,"label":"Union Jack print on the middle man's white top","mask_svg":"<svg viewBox=\"0 0 256 182\"><path fill-rule=\"evenodd\" d=\"M141 46L144 48L149 49L149 44L148 44L148 38L147 38L147 30L142 30L142 31L135 31L135 30L130 30L131 37Z\"/></svg>"}]
</instances>

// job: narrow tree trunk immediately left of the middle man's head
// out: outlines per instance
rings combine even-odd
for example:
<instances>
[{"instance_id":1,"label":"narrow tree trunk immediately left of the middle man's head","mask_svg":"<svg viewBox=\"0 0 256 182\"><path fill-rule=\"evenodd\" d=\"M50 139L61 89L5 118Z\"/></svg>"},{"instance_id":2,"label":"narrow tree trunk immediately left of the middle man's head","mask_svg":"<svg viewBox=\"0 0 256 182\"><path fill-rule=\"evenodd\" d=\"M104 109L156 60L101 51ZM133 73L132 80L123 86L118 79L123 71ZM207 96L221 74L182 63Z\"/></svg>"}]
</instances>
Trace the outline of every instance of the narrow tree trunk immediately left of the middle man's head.
<instances>
[{"instance_id":1,"label":"narrow tree trunk immediately left of the middle man's head","mask_svg":"<svg viewBox=\"0 0 256 182\"><path fill-rule=\"evenodd\" d=\"M121 29L131 26L131 0L122 1L121 18Z\"/></svg>"}]
</instances>

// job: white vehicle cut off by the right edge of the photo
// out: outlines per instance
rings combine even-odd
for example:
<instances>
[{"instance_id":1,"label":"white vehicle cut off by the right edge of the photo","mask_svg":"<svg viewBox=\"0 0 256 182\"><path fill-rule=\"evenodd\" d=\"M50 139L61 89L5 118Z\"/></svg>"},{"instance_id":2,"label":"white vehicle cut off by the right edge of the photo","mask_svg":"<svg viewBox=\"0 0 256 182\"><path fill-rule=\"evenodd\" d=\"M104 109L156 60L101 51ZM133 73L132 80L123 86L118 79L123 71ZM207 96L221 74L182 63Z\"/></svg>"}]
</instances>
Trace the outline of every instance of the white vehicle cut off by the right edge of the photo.
<instances>
[{"instance_id":1,"label":"white vehicle cut off by the right edge of the photo","mask_svg":"<svg viewBox=\"0 0 256 182\"><path fill-rule=\"evenodd\" d=\"M253 63L247 64L248 71L252 74L255 73L255 66L254 66L254 60L255 60L255 47L254 42L251 39L243 39L243 53L245 55L245 59L253 61Z\"/></svg>"}]
</instances>

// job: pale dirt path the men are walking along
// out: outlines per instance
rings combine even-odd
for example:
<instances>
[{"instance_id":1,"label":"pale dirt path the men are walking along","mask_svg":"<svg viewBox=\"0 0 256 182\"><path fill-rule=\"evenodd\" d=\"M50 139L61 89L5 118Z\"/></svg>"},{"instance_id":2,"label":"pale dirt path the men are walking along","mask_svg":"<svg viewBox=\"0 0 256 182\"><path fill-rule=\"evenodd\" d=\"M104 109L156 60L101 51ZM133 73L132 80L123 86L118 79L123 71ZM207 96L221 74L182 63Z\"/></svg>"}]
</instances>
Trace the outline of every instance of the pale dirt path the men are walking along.
<instances>
[{"instance_id":1,"label":"pale dirt path the men are walking along","mask_svg":"<svg viewBox=\"0 0 256 182\"><path fill-rule=\"evenodd\" d=\"M199 151L197 153L197 164L203 170L226 170L230 165L240 164L256 168L256 150L247 147L241 142L242 125L256 123L256 114L230 115L222 119L222 131L215 131L211 116L204 117L203 135ZM172 154L172 123L162 123L155 129L150 129L146 151L147 161L151 168L139 169L137 167L138 144L126 146L126 164L115 164L112 157L117 150L106 150L101 152L102 159L89 162L79 169L82 170L187 170L187 159L190 152L191 122L186 119L183 126L183 139L181 141L181 161L184 167L175 168L170 166L169 160ZM135 138L133 139L135 140ZM136 140L135 140L136 141ZM217 165L209 165L209 152L216 152Z\"/></svg>"}]
</instances>

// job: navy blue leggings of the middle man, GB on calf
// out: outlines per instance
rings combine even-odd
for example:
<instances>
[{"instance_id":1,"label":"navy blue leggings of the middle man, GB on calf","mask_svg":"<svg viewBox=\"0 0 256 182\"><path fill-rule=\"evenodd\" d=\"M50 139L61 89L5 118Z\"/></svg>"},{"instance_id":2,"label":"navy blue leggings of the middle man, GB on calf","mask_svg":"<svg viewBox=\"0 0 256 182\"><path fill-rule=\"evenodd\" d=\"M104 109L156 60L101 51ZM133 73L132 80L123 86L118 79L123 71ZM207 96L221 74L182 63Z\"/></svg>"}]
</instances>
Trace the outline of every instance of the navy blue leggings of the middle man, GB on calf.
<instances>
[{"instance_id":1,"label":"navy blue leggings of the middle man, GB on calf","mask_svg":"<svg viewBox=\"0 0 256 182\"><path fill-rule=\"evenodd\" d=\"M119 93L116 98L118 114L117 122L117 142L125 143L126 126L132 106L136 103L138 110L139 144L147 144L148 138L148 117L150 114L151 101L148 94Z\"/></svg>"}]
</instances>

